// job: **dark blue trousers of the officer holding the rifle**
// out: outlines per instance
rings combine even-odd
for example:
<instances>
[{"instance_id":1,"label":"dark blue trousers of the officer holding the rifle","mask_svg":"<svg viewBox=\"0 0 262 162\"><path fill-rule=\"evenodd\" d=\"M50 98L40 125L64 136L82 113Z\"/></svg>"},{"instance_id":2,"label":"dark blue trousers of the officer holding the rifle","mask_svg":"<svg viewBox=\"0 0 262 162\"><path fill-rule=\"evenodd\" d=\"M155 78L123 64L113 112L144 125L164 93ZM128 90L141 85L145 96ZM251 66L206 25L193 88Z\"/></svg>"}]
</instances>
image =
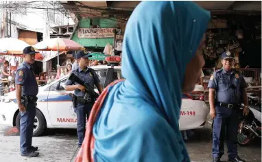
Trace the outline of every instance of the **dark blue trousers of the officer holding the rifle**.
<instances>
[{"instance_id":1,"label":"dark blue trousers of the officer holding the rifle","mask_svg":"<svg viewBox=\"0 0 262 162\"><path fill-rule=\"evenodd\" d=\"M77 107L75 108L75 113L77 115L77 130L78 130L78 146L82 146L84 141L84 133L86 131L86 119L88 119L91 108L93 104L80 104L78 103Z\"/></svg>"}]
</instances>

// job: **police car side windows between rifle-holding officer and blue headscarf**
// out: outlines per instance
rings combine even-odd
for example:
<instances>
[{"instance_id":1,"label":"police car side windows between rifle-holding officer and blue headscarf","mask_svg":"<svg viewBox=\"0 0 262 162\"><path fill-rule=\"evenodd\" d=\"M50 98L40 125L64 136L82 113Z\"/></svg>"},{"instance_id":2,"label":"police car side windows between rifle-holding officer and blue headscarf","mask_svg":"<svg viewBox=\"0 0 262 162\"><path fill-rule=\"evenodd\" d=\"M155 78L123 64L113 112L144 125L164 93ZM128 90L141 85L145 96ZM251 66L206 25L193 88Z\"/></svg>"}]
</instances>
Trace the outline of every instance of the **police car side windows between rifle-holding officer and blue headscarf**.
<instances>
[{"instance_id":1,"label":"police car side windows between rifle-holding officer and blue headscarf","mask_svg":"<svg viewBox=\"0 0 262 162\"><path fill-rule=\"evenodd\" d=\"M104 83L106 81L107 69L98 69L98 70L95 70L95 72L97 73L97 76L100 80L100 84L104 87L107 86L107 85L104 85ZM120 69L114 69L114 72L112 73L112 82L115 81L115 80L119 80L121 78L122 78L121 70Z\"/></svg>"}]
</instances>

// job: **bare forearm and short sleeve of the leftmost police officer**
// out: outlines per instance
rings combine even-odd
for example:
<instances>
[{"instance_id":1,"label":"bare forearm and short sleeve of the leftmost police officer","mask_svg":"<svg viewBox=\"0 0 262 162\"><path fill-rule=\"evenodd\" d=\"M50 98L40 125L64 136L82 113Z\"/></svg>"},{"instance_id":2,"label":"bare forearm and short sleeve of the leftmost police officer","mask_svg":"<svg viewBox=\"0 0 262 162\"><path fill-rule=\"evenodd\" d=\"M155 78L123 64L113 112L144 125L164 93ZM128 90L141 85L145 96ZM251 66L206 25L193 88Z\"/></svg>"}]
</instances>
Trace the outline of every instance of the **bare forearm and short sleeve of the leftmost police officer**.
<instances>
[{"instance_id":1,"label":"bare forearm and short sleeve of the leftmost police officer","mask_svg":"<svg viewBox=\"0 0 262 162\"><path fill-rule=\"evenodd\" d=\"M22 85L25 83L26 73L25 69L19 69L16 71L16 100L17 104L21 104Z\"/></svg>"}]
</instances>

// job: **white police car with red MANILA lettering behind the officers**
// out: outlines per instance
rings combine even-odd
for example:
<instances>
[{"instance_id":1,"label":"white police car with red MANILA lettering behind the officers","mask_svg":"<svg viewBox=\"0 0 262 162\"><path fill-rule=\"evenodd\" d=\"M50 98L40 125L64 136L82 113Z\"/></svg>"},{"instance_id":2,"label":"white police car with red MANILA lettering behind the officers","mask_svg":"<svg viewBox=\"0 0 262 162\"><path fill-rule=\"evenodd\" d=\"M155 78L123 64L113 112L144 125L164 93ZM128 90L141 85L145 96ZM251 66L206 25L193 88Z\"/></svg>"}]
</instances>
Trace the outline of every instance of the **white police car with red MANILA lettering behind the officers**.
<instances>
[{"instance_id":1,"label":"white police car with red MANILA lettering behind the officers","mask_svg":"<svg viewBox=\"0 0 262 162\"><path fill-rule=\"evenodd\" d=\"M99 65L91 67L97 73L102 86L121 79L121 66ZM68 76L39 86L34 136L41 135L46 128L76 128L76 114L69 93L64 90ZM192 93L182 95L180 130L203 128L209 110L204 102L204 88L196 85ZM16 126L19 129L20 114L16 104L16 94L12 91L0 98L0 124Z\"/></svg>"}]
</instances>

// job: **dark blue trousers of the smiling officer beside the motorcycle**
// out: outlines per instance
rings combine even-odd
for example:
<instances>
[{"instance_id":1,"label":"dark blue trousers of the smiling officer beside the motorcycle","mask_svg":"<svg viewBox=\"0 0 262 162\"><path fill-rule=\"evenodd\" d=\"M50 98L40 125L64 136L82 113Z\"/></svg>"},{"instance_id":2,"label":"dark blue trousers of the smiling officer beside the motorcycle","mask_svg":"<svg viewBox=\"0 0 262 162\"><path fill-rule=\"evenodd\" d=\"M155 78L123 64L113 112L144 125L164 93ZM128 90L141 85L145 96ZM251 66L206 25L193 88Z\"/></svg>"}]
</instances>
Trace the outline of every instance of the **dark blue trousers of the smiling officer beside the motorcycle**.
<instances>
[{"instance_id":1,"label":"dark blue trousers of the smiling officer beside the motorcycle","mask_svg":"<svg viewBox=\"0 0 262 162\"><path fill-rule=\"evenodd\" d=\"M237 157L237 130L239 126L239 110L229 108L215 108L217 116L213 122L213 157L224 154L224 139L228 147L228 159Z\"/></svg>"}]
</instances>

